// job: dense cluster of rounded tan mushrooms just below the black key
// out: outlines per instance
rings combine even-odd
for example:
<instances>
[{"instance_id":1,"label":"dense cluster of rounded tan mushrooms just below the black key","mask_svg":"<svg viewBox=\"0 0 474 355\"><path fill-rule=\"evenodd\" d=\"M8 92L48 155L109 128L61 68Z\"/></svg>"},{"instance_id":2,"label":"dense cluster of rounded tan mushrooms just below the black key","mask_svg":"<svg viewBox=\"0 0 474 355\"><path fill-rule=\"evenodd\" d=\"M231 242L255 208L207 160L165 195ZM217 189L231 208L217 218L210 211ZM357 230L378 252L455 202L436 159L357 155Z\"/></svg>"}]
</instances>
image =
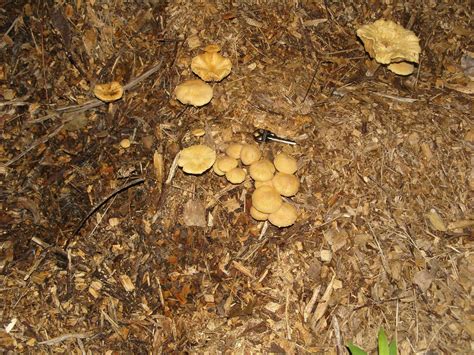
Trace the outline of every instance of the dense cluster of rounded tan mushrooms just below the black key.
<instances>
[{"instance_id":1,"label":"dense cluster of rounded tan mushrooms just below the black key","mask_svg":"<svg viewBox=\"0 0 474 355\"><path fill-rule=\"evenodd\" d=\"M272 161L262 158L262 152L255 144L233 143L225 154L217 157L213 170L226 177L232 184L242 183L248 173L255 183L250 215L257 221L268 220L277 227L288 227L295 223L296 208L283 200L292 197L299 190L299 179L294 175L296 160L286 153L278 154Z\"/></svg>"}]
</instances>

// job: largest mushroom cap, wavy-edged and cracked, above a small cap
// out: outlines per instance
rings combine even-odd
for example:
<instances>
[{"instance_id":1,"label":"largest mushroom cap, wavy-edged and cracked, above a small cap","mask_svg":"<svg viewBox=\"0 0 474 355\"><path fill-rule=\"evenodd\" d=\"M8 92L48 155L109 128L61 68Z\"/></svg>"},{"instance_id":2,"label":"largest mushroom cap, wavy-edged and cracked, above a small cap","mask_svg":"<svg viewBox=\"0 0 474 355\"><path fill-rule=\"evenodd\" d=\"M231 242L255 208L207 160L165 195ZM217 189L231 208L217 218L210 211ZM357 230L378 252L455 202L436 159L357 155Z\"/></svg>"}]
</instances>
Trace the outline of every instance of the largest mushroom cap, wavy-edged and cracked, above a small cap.
<instances>
[{"instance_id":1,"label":"largest mushroom cap, wavy-edged and cracked, above a small cap","mask_svg":"<svg viewBox=\"0 0 474 355\"><path fill-rule=\"evenodd\" d=\"M420 40L413 31L393 21L377 20L357 30L365 50L381 64L396 62L418 63Z\"/></svg>"}]
</instances>

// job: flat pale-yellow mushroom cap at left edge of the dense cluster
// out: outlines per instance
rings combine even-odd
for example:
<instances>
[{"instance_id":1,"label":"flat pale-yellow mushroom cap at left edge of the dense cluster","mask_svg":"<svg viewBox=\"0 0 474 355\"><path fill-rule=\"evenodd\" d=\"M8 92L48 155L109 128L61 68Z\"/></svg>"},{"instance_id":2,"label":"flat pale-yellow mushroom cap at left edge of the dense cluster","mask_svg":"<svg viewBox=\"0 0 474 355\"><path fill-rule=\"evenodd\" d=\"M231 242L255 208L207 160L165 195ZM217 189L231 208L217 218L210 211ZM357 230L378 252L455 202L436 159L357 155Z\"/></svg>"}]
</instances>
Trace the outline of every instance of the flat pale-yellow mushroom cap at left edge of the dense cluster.
<instances>
[{"instance_id":1,"label":"flat pale-yellow mushroom cap at left edge of the dense cluster","mask_svg":"<svg viewBox=\"0 0 474 355\"><path fill-rule=\"evenodd\" d=\"M188 174L202 174L216 160L216 152L205 145L193 145L179 152L178 166Z\"/></svg>"}]
</instances>

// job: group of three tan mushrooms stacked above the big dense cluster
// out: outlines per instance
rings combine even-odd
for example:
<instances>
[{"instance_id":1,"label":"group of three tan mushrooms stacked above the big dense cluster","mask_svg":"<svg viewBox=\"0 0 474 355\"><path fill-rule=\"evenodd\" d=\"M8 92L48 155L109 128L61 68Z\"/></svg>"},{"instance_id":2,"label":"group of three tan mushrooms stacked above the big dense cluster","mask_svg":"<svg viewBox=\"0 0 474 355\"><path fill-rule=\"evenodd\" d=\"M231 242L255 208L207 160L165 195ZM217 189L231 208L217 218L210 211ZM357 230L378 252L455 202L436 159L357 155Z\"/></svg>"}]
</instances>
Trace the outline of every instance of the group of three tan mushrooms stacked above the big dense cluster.
<instances>
[{"instance_id":1,"label":"group of three tan mushrooms stacked above the big dense cluster","mask_svg":"<svg viewBox=\"0 0 474 355\"><path fill-rule=\"evenodd\" d=\"M179 102L200 107L211 101L214 91L206 81L221 81L232 70L231 61L222 56L220 50L219 45L210 44L204 48L204 53L192 59L191 70L200 79L187 80L176 87L174 95Z\"/></svg>"}]
</instances>

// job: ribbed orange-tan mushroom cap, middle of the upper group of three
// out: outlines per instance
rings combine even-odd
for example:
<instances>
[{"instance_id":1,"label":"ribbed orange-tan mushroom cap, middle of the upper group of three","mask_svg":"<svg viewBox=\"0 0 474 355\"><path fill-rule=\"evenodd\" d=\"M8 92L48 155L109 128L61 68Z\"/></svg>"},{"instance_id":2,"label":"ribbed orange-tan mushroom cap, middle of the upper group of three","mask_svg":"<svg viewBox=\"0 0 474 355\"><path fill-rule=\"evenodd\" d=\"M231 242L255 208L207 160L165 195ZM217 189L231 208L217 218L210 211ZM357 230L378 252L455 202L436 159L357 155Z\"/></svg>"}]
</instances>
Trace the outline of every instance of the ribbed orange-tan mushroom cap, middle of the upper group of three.
<instances>
[{"instance_id":1,"label":"ribbed orange-tan mushroom cap, middle of the upper group of three","mask_svg":"<svg viewBox=\"0 0 474 355\"><path fill-rule=\"evenodd\" d=\"M205 52L193 58L191 70L204 81L221 81L230 74L232 62L217 52Z\"/></svg>"}]
</instances>

